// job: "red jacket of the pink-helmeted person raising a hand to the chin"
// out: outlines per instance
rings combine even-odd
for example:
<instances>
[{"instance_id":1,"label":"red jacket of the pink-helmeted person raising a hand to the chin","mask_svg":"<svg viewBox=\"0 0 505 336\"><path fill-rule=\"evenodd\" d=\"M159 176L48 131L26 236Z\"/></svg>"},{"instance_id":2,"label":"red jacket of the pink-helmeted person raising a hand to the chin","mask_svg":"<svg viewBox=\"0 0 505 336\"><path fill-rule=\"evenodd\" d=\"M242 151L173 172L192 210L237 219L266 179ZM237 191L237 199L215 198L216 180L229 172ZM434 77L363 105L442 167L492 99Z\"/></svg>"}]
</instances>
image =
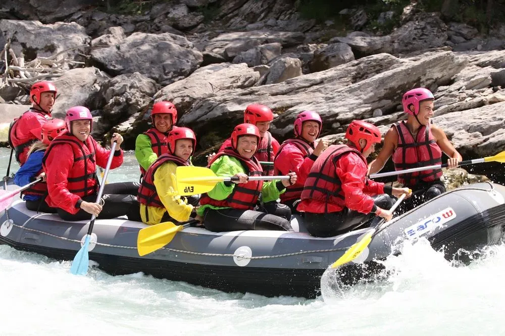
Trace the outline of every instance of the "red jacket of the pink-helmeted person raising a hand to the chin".
<instances>
[{"instance_id":1,"label":"red jacket of the pink-helmeted person raising a hand to the chin","mask_svg":"<svg viewBox=\"0 0 505 336\"><path fill-rule=\"evenodd\" d=\"M300 198L307 176L317 159L317 156L312 154L313 151L314 144L299 138L288 139L279 147L274 161L274 174L287 175L289 172L295 172L297 175L296 183L288 186L280 195L281 201Z\"/></svg>"}]
</instances>

